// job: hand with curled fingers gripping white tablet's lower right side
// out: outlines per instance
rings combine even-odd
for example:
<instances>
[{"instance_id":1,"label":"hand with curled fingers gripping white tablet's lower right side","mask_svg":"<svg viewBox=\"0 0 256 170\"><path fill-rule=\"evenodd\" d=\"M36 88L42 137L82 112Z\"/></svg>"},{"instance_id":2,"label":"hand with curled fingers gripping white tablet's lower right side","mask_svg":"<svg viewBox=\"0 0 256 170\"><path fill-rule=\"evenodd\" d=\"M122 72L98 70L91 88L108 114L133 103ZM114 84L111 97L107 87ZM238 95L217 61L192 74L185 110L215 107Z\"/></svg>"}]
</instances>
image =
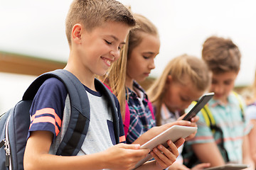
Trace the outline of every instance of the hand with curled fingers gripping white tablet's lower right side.
<instances>
[{"instance_id":1,"label":"hand with curled fingers gripping white tablet's lower right side","mask_svg":"<svg viewBox=\"0 0 256 170\"><path fill-rule=\"evenodd\" d=\"M151 156L156 159L156 166L161 169L166 169L171 166L176 161L178 157L178 147L180 147L185 140L180 138L176 142L171 142L171 140L167 141L169 145L168 148L163 145L158 145L150 152Z\"/></svg>"}]
</instances>

